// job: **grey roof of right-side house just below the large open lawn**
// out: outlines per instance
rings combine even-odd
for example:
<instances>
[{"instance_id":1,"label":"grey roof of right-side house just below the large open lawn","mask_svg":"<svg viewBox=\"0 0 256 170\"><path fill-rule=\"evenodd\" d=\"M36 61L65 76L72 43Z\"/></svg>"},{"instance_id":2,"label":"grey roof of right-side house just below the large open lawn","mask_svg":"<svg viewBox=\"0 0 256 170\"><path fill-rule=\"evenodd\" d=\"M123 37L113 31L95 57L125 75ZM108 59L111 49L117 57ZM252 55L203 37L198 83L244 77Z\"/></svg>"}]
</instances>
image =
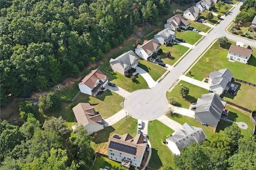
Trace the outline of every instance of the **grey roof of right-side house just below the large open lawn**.
<instances>
[{"instance_id":1,"label":"grey roof of right-side house just below the large open lawn","mask_svg":"<svg viewBox=\"0 0 256 170\"><path fill-rule=\"evenodd\" d=\"M230 70L227 68L220 69L219 71L210 72L209 78L212 79L210 87L220 85L222 88L225 88L232 79L232 77L232 72L230 72Z\"/></svg>"}]
</instances>

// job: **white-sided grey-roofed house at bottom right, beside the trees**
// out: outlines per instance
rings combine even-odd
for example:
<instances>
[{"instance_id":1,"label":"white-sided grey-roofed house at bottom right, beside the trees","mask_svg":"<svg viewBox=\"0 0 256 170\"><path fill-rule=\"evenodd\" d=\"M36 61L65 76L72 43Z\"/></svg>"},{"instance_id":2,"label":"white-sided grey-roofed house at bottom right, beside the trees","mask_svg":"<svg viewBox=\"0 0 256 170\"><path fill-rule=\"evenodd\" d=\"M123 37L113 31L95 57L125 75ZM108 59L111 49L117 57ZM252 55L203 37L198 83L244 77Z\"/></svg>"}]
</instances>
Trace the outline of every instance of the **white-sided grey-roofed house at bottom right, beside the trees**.
<instances>
[{"instance_id":1,"label":"white-sided grey-roofed house at bottom right, beside the trees","mask_svg":"<svg viewBox=\"0 0 256 170\"><path fill-rule=\"evenodd\" d=\"M182 125L182 129L166 139L166 145L174 155L180 155L184 147L193 142L202 143L205 139L207 137L202 128L185 123Z\"/></svg>"}]
</instances>

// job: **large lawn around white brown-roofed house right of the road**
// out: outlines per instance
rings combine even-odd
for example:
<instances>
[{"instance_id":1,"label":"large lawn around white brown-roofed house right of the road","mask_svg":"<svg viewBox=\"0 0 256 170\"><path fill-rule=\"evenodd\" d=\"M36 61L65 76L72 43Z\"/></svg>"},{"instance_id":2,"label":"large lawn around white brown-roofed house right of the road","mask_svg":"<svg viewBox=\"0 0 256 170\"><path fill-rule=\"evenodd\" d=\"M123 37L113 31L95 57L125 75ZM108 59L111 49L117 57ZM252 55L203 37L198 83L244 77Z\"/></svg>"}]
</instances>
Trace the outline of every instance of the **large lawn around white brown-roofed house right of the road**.
<instances>
[{"instance_id":1,"label":"large lawn around white brown-roofed house right of the road","mask_svg":"<svg viewBox=\"0 0 256 170\"><path fill-rule=\"evenodd\" d=\"M235 44L235 42L229 43ZM215 42L209 51L207 51L190 70L191 76L195 79L203 80L205 75L209 74L211 71L228 68L233 73L233 77L256 84L256 48L253 48L253 53L248 64L238 61L228 61L228 48L222 48L219 46L218 41ZM187 76L190 75L187 74Z\"/></svg>"}]
</instances>

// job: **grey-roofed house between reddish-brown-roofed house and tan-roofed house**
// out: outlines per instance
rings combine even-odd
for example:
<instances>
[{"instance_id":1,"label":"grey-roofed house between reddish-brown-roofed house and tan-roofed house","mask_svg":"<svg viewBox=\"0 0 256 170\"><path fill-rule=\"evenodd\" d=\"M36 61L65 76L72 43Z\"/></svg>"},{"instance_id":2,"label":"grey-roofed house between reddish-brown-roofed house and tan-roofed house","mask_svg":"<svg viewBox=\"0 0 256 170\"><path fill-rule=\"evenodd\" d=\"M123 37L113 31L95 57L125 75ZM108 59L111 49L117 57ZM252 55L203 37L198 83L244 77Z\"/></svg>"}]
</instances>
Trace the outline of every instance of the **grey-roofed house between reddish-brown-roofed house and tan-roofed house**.
<instances>
[{"instance_id":1,"label":"grey-roofed house between reddish-brown-roofed house and tan-roofed house","mask_svg":"<svg viewBox=\"0 0 256 170\"><path fill-rule=\"evenodd\" d=\"M124 72L127 72L131 68L135 68L138 66L139 58L131 50L126 53L123 53L115 59L110 59L109 63L114 71L117 71L120 74L124 75Z\"/></svg>"}]
</instances>

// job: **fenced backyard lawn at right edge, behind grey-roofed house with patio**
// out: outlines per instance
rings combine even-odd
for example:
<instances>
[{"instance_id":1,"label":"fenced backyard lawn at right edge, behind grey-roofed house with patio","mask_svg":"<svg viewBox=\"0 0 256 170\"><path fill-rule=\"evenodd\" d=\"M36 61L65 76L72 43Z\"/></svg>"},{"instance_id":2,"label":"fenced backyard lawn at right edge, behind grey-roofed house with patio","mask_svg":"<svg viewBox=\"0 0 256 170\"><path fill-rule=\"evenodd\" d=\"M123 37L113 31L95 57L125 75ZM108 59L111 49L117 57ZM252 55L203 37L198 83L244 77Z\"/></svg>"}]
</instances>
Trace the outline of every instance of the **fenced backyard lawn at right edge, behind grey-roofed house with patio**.
<instances>
[{"instance_id":1,"label":"fenced backyard lawn at right edge, behind grey-roofed house with patio","mask_svg":"<svg viewBox=\"0 0 256 170\"><path fill-rule=\"evenodd\" d=\"M225 93L223 99L250 110L256 109L256 87L239 82L233 83L239 85L240 87L237 94L235 96L231 96L228 93Z\"/></svg>"}]
</instances>

